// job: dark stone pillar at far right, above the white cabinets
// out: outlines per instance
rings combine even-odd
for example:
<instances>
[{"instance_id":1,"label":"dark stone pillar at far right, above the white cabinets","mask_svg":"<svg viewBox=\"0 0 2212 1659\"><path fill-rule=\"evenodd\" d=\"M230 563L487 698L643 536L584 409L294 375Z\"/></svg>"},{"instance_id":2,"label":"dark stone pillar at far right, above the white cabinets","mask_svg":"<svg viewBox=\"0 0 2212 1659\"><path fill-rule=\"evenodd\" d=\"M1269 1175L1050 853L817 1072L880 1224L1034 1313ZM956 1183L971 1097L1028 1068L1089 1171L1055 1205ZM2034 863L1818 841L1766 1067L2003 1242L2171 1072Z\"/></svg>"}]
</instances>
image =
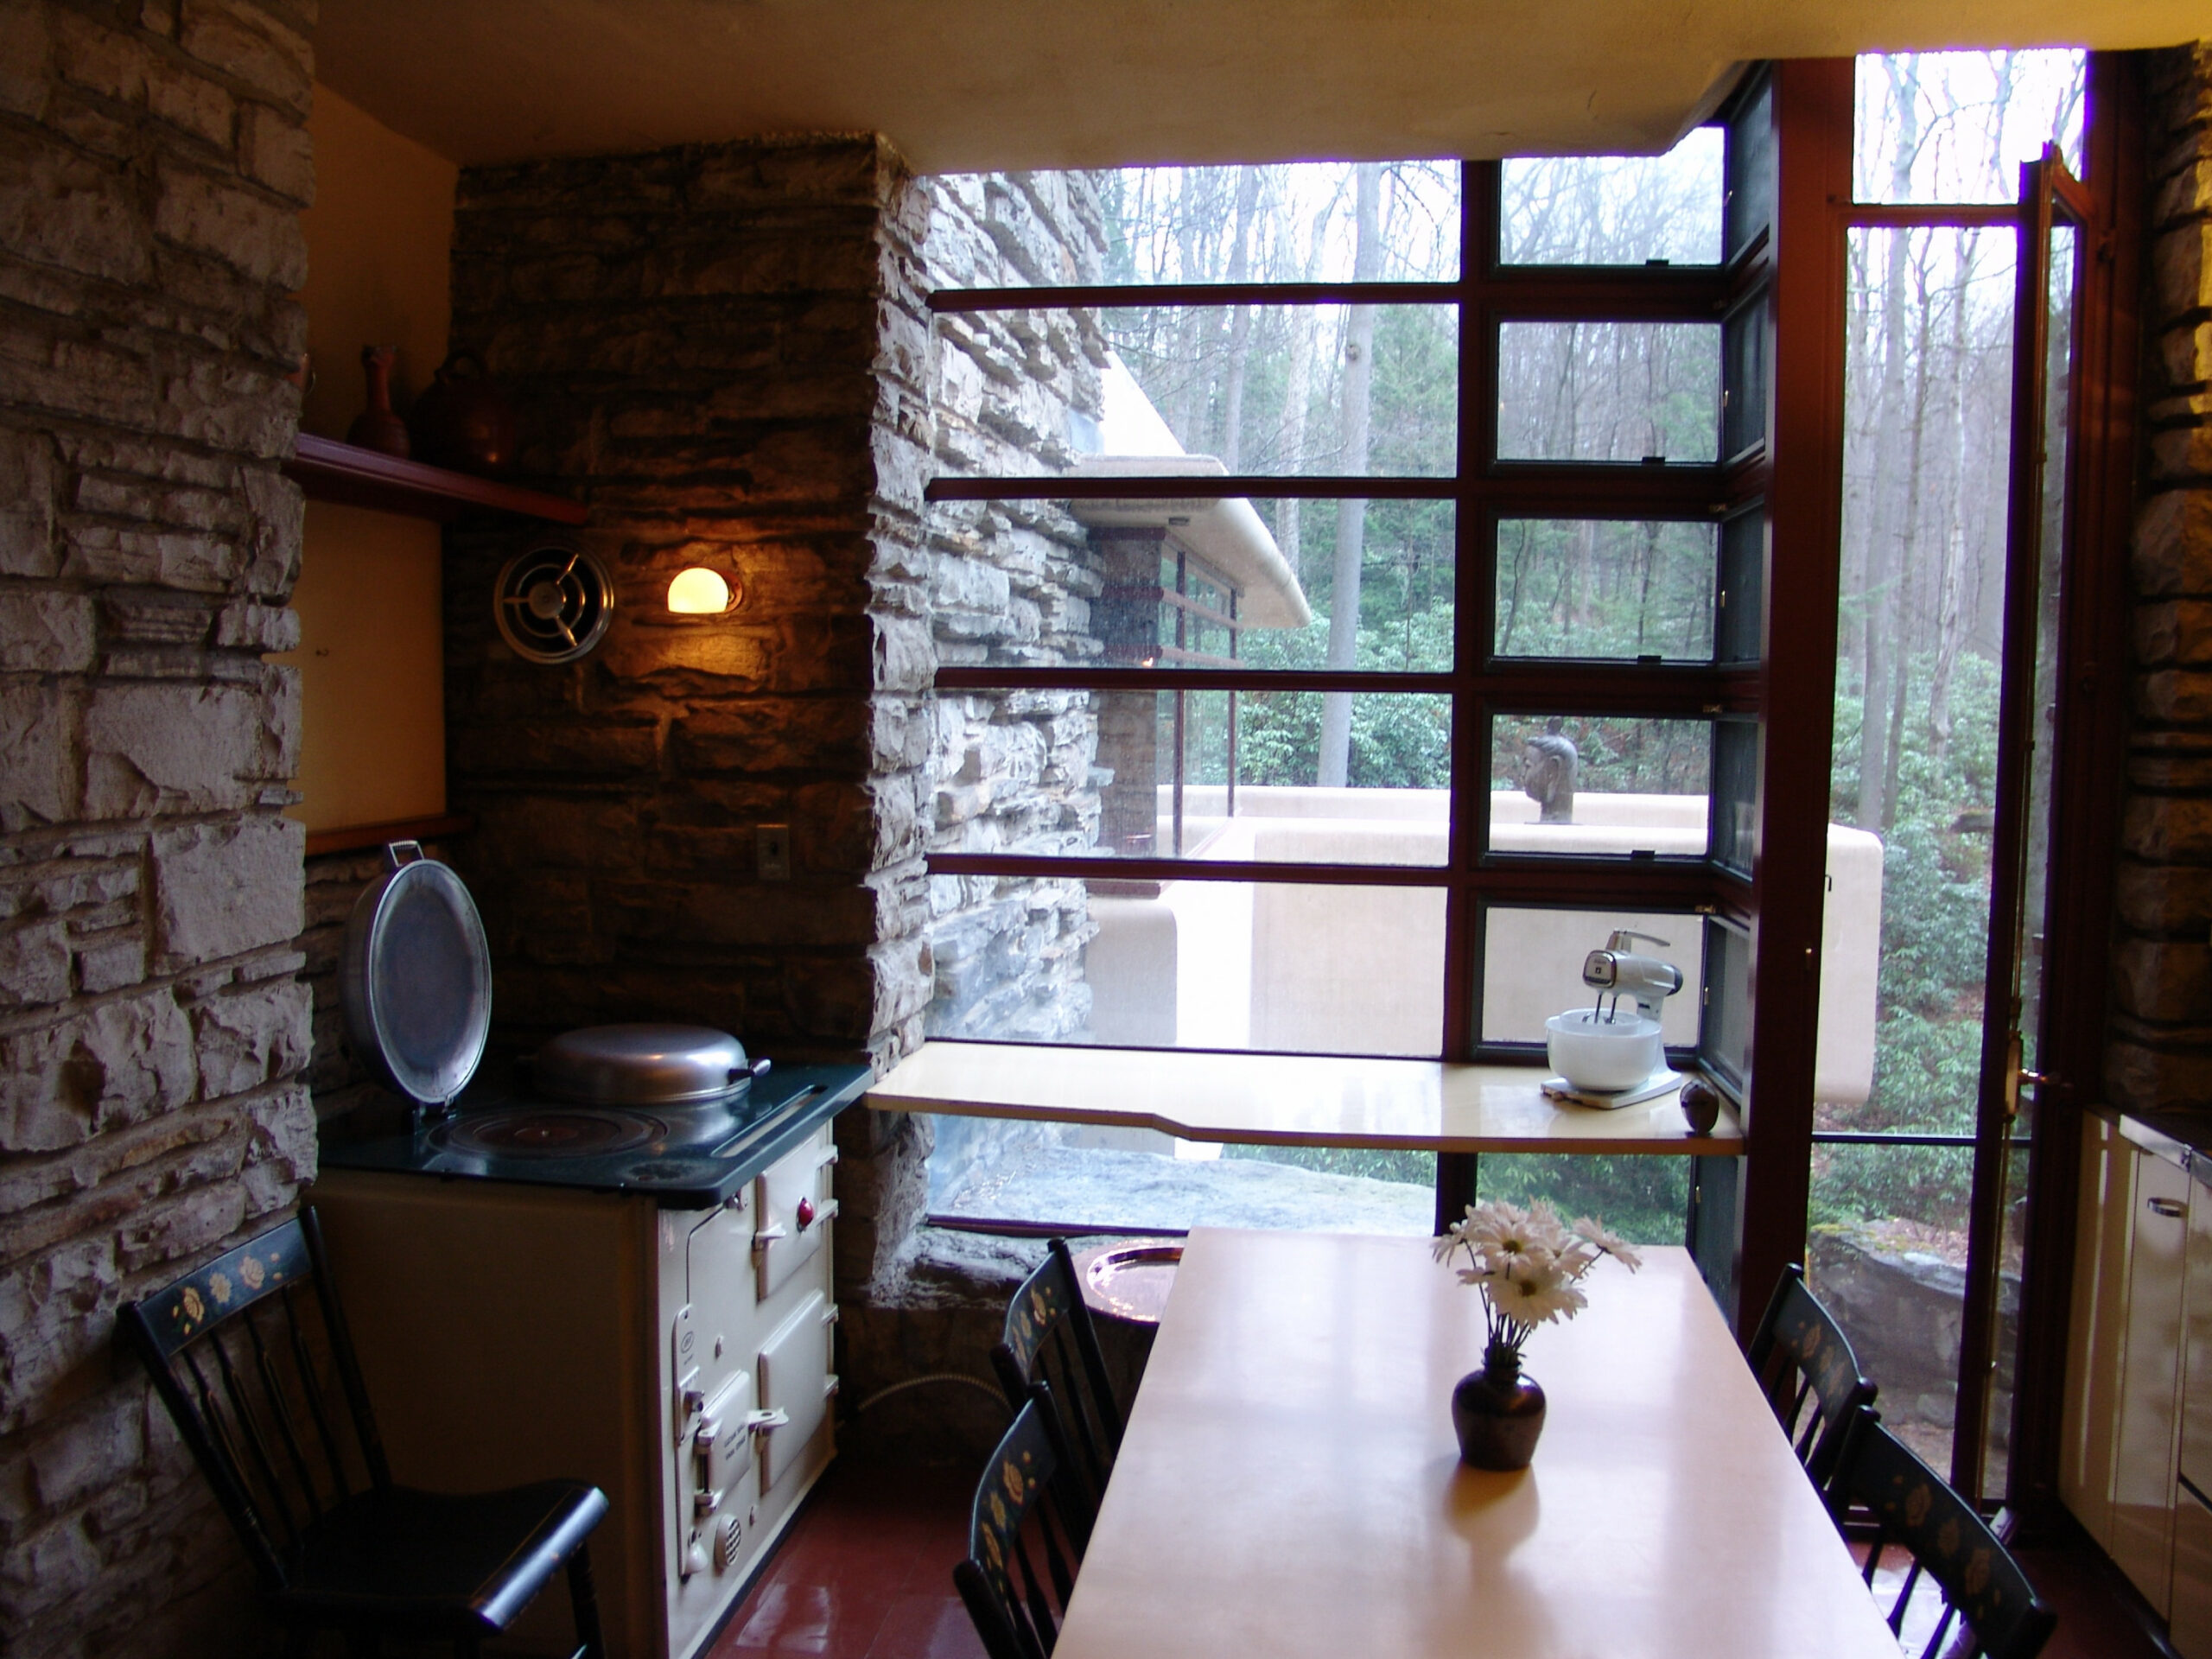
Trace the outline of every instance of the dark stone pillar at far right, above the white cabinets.
<instances>
[{"instance_id":1,"label":"dark stone pillar at far right, above the white cabinets","mask_svg":"<svg viewBox=\"0 0 2212 1659\"><path fill-rule=\"evenodd\" d=\"M2148 451L2119 867L2115 1106L2212 1106L2212 42L2148 58Z\"/></svg>"}]
</instances>

